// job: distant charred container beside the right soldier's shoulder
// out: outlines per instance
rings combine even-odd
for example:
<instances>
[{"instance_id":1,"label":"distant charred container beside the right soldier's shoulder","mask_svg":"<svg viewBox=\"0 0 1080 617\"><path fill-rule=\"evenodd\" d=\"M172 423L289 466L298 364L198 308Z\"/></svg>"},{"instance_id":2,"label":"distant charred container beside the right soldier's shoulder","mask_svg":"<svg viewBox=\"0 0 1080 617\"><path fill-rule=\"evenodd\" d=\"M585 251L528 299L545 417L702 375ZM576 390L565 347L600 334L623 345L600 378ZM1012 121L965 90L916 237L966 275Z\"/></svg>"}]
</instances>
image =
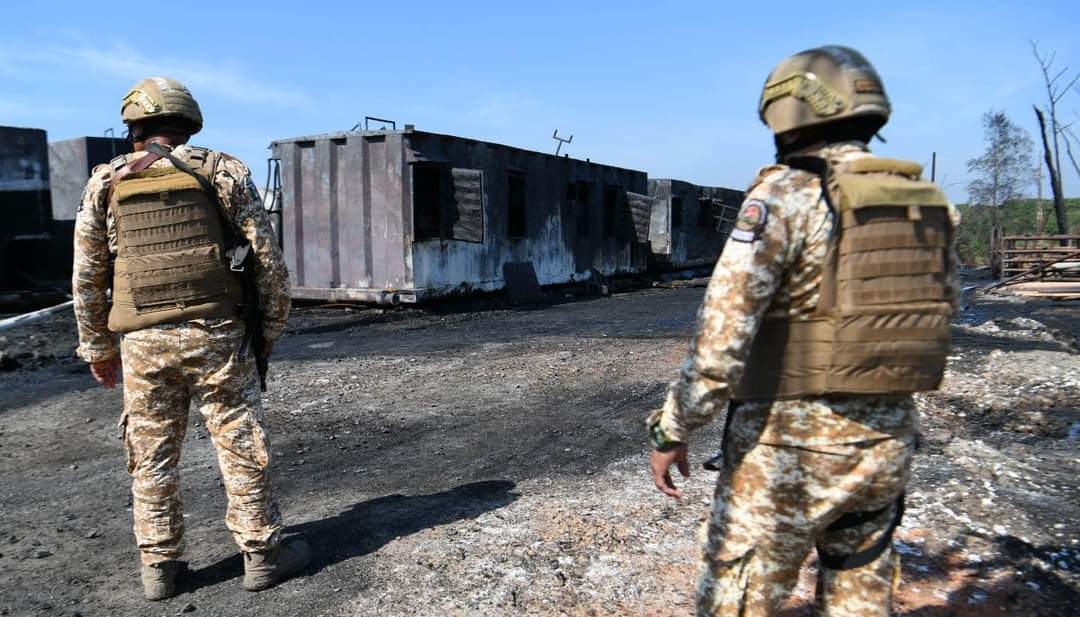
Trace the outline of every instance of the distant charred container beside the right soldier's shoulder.
<instances>
[{"instance_id":1,"label":"distant charred container beside the right soldier's shoulder","mask_svg":"<svg viewBox=\"0 0 1080 617\"><path fill-rule=\"evenodd\" d=\"M660 268L693 268L716 261L743 192L674 179L650 179L653 199L649 242Z\"/></svg>"}]
</instances>

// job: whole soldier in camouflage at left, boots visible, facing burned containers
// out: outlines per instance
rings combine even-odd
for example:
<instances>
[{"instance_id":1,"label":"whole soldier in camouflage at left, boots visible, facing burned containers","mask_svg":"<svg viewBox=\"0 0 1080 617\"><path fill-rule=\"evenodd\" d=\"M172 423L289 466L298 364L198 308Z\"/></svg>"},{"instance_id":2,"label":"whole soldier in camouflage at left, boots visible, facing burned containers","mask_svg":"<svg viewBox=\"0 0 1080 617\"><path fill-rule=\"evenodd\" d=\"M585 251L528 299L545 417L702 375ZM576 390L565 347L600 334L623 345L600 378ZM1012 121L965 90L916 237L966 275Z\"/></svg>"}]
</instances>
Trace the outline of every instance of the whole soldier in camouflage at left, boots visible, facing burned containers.
<instances>
[{"instance_id":1,"label":"whole soldier in camouflage at left, boots visible, facing burned containers","mask_svg":"<svg viewBox=\"0 0 1080 617\"><path fill-rule=\"evenodd\" d=\"M120 425L144 591L149 600L174 595L183 568L177 462L192 401L217 451L226 524L245 555L244 587L265 589L302 568L310 553L302 541L281 540L248 351L251 337L262 337L269 356L285 328L285 264L249 170L228 155L187 145L202 128L187 89L146 79L124 98L121 116L135 151L98 165L86 185L72 287L79 356L107 388L122 366ZM162 153L148 151L162 147ZM246 266L230 261L244 244ZM232 266L254 270L261 332L249 332L240 317L243 283Z\"/></svg>"}]
</instances>

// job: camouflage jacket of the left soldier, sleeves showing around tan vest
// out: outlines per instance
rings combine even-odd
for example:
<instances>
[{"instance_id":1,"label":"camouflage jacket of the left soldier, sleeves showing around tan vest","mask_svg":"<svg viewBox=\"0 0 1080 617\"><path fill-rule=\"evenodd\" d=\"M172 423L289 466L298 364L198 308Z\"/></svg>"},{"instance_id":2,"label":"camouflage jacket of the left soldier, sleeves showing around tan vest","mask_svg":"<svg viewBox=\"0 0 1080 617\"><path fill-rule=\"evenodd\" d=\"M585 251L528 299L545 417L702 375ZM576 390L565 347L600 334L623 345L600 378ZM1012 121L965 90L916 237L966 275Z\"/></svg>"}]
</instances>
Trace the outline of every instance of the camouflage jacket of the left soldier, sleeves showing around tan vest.
<instances>
[{"instance_id":1,"label":"camouflage jacket of the left soldier, sleeves showing around tan vest","mask_svg":"<svg viewBox=\"0 0 1080 617\"><path fill-rule=\"evenodd\" d=\"M183 145L173 152L183 160L189 149L190 146ZM134 152L125 155L125 159L132 162L144 156L147 152ZM150 166L170 165L171 162L161 159ZM119 352L116 337L107 325L109 300L106 292L112 285L112 260L117 255L116 220L107 203L112 176L113 169L109 164L94 167L75 226L71 295L79 322L78 353L86 362L108 360ZM265 313L262 336L276 340L288 318L288 271L262 199L252 182L252 172L240 160L220 155L212 180L226 213L252 244L255 283Z\"/></svg>"}]
</instances>

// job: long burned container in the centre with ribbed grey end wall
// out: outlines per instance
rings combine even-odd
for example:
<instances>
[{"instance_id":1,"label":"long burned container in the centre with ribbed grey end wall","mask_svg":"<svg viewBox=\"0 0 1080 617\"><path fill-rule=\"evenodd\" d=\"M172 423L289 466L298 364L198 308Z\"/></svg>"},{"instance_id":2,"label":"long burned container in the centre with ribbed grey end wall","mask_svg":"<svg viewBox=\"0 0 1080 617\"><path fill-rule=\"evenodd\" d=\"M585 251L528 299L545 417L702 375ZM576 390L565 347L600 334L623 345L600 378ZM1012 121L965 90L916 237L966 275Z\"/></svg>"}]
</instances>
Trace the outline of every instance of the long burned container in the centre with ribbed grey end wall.
<instances>
[{"instance_id":1,"label":"long burned container in the centre with ribbed grey end wall","mask_svg":"<svg viewBox=\"0 0 1080 617\"><path fill-rule=\"evenodd\" d=\"M404 130L279 139L295 297L422 301L648 266L644 172ZM509 265L509 266L508 266Z\"/></svg>"}]
</instances>

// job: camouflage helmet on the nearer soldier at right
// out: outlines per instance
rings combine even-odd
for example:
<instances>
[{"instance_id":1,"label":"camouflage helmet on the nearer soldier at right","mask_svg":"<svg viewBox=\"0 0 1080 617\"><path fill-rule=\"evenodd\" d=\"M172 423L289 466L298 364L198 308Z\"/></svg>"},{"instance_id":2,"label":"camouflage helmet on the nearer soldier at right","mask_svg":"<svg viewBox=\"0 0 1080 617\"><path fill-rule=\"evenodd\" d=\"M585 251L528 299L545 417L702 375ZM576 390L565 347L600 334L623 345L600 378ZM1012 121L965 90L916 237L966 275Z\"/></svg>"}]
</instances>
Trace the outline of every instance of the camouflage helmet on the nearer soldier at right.
<instances>
[{"instance_id":1,"label":"camouflage helmet on the nearer soldier at right","mask_svg":"<svg viewBox=\"0 0 1080 617\"><path fill-rule=\"evenodd\" d=\"M848 118L889 120L889 98L876 70L851 48L827 45L780 63L765 82L758 115L775 134Z\"/></svg>"}]
</instances>

